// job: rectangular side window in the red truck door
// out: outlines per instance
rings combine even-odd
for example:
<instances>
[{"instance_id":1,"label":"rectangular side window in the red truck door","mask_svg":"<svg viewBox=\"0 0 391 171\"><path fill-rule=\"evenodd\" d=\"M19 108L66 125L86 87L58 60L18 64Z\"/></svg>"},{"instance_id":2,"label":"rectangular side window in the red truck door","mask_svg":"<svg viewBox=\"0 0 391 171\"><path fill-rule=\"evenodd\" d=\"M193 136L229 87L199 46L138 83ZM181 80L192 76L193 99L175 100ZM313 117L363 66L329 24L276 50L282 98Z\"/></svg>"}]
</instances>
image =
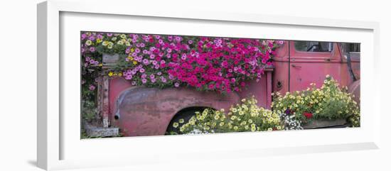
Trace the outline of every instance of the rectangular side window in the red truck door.
<instances>
[{"instance_id":1,"label":"rectangular side window in the red truck door","mask_svg":"<svg viewBox=\"0 0 391 171\"><path fill-rule=\"evenodd\" d=\"M303 52L331 52L333 43L315 41L294 41L294 48Z\"/></svg>"}]
</instances>

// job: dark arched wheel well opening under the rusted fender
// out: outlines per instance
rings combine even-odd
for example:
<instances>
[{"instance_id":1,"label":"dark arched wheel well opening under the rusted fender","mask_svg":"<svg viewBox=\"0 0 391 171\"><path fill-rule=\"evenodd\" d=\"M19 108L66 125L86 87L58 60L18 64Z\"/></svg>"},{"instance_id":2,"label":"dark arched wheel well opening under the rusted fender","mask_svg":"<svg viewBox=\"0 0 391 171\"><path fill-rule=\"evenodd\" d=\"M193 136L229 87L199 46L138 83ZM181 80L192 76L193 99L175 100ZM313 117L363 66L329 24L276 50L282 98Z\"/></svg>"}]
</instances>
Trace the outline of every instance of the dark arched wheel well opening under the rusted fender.
<instances>
[{"instance_id":1,"label":"dark arched wheel well opening under the rusted fender","mask_svg":"<svg viewBox=\"0 0 391 171\"><path fill-rule=\"evenodd\" d=\"M213 109L213 108L206 107L206 106L191 106L191 107L186 107L186 108L181 109L180 111L176 112L176 114L173 116L173 118L171 118L170 123L168 123L168 126L166 128L166 134L170 135L172 132L179 133L179 127L181 126L181 124L177 128L173 128L174 122L178 122L179 119L183 118L185 120L184 123L187 123L188 119L190 119L191 116L195 115L195 111L202 112L204 109L207 109L207 108Z\"/></svg>"}]
</instances>

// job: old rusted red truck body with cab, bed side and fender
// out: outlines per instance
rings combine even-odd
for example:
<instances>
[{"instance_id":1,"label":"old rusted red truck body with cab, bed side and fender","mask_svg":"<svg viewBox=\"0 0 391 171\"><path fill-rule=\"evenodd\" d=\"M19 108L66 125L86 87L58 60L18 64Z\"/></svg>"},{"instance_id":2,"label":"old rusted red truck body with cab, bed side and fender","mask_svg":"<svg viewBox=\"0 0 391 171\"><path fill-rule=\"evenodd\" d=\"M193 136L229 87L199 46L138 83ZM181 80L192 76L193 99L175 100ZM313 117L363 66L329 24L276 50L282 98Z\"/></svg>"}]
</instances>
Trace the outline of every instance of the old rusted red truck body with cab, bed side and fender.
<instances>
[{"instance_id":1,"label":"old rusted red truck body with cab, bed side and fender","mask_svg":"<svg viewBox=\"0 0 391 171\"><path fill-rule=\"evenodd\" d=\"M103 57L104 64L112 60L112 55ZM359 101L360 46L357 43L286 40L273 60L273 67L265 70L259 82L249 80L244 91L225 95L188 87L134 87L122 77L103 76L97 98L103 127L119 128L124 136L164 135L175 130L172 123L179 118L191 118L195 111L205 108L228 109L252 95L259 106L270 109L272 92L302 90L312 82L320 87L325 75L349 87Z\"/></svg>"}]
</instances>

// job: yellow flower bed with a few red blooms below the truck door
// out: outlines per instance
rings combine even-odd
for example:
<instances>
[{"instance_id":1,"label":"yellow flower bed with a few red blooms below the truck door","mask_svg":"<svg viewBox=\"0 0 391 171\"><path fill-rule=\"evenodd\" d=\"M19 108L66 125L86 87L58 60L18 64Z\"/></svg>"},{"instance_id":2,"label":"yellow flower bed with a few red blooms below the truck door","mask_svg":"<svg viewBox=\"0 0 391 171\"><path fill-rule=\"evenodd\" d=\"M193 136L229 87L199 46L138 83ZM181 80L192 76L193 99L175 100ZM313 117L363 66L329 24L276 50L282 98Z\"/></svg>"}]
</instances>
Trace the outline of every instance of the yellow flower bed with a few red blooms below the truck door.
<instances>
[{"instance_id":1,"label":"yellow flower bed with a few red blooms below the truck door","mask_svg":"<svg viewBox=\"0 0 391 171\"><path fill-rule=\"evenodd\" d=\"M320 89L316 89L313 83L306 90L286 92L284 96L277 92L273 97L272 108L278 113L284 113L284 117L293 115L298 124L347 118L352 126L360 126L358 104L352 98L354 95L348 94L347 90L347 87L338 87L336 80L327 75Z\"/></svg>"}]
</instances>

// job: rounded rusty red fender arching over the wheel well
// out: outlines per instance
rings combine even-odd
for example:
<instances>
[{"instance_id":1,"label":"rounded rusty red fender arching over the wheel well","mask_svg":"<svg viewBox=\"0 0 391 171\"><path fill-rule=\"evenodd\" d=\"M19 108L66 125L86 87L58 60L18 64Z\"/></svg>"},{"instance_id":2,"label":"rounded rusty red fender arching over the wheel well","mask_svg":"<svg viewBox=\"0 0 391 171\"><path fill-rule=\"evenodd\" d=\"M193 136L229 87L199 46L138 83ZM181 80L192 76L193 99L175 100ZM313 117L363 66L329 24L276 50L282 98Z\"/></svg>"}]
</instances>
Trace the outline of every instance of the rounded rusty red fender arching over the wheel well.
<instances>
[{"instance_id":1,"label":"rounded rusty red fender arching over the wheel well","mask_svg":"<svg viewBox=\"0 0 391 171\"><path fill-rule=\"evenodd\" d=\"M189 106L229 109L240 101L238 94L199 92L191 88L127 89L117 99L117 119L113 123L124 136L164 135L171 118Z\"/></svg>"}]
</instances>

